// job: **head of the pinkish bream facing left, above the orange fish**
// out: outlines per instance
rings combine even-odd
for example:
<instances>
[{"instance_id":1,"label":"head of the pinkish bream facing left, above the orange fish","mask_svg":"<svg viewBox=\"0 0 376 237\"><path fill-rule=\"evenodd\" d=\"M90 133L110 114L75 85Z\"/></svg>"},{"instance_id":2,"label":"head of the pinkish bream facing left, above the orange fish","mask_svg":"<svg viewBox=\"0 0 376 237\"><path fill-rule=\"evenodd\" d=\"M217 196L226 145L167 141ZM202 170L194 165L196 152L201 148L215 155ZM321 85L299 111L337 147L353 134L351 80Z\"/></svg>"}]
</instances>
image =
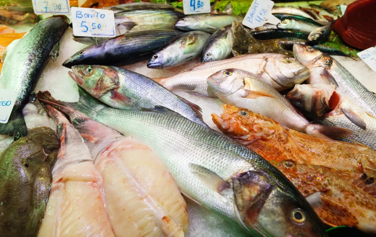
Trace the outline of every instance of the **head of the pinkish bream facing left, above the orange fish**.
<instances>
[{"instance_id":1,"label":"head of the pinkish bream facing left, above the orange fish","mask_svg":"<svg viewBox=\"0 0 376 237\"><path fill-rule=\"evenodd\" d=\"M208 86L218 97L226 97L244 87L244 73L240 69L223 69L206 79Z\"/></svg>"}]
</instances>

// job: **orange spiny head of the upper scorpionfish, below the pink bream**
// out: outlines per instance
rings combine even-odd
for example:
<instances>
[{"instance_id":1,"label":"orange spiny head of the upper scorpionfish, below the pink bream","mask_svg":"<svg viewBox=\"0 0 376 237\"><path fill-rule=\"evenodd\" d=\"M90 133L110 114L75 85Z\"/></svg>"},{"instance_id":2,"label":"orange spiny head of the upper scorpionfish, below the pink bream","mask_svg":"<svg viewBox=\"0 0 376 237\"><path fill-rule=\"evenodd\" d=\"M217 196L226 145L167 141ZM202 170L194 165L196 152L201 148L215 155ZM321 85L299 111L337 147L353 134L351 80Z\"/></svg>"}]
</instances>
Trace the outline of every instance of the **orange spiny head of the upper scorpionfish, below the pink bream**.
<instances>
[{"instance_id":1,"label":"orange spiny head of the upper scorpionfish, below the pink bream","mask_svg":"<svg viewBox=\"0 0 376 237\"><path fill-rule=\"evenodd\" d=\"M224 134L244 145L258 139L269 139L276 132L276 122L264 115L229 104L223 104L222 110L220 116L212 113L214 124Z\"/></svg>"}]
</instances>

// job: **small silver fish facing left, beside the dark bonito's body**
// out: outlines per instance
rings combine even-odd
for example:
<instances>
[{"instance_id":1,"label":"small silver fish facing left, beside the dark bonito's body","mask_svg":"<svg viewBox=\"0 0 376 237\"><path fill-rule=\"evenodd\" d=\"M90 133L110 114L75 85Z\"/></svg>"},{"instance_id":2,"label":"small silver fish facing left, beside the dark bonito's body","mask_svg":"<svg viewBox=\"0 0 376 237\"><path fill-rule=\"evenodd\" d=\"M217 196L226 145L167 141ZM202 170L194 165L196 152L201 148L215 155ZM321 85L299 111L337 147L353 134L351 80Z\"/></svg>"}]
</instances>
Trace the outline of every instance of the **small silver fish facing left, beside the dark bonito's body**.
<instances>
[{"instance_id":1,"label":"small silver fish facing left, beside the dark bonito's body","mask_svg":"<svg viewBox=\"0 0 376 237\"><path fill-rule=\"evenodd\" d=\"M201 54L210 34L202 31L183 33L153 53L148 68L165 69L182 65Z\"/></svg>"}]
</instances>

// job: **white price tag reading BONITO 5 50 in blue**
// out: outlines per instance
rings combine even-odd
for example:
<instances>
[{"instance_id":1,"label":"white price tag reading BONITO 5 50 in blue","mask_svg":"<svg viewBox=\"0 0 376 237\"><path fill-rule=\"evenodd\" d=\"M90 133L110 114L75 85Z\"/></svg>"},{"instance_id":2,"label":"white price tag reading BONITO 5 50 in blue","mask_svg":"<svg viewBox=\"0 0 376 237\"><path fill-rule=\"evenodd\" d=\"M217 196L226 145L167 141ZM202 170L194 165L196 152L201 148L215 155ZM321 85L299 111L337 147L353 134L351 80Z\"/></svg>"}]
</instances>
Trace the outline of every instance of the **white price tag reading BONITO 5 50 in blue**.
<instances>
[{"instance_id":1,"label":"white price tag reading BONITO 5 50 in blue","mask_svg":"<svg viewBox=\"0 0 376 237\"><path fill-rule=\"evenodd\" d=\"M72 7L73 35L115 37L114 12L111 10Z\"/></svg>"}]
</instances>

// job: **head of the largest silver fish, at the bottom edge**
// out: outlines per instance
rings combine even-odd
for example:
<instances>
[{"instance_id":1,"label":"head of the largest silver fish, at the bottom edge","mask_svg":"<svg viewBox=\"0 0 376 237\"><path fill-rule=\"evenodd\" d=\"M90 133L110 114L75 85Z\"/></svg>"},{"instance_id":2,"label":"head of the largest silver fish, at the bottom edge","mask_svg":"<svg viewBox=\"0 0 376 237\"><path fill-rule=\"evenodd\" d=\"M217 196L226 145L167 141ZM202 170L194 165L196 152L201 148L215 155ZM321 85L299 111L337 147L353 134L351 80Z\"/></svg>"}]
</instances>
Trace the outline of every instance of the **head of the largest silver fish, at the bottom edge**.
<instances>
[{"instance_id":1,"label":"head of the largest silver fish, at the bottom edge","mask_svg":"<svg viewBox=\"0 0 376 237\"><path fill-rule=\"evenodd\" d=\"M254 170L231 179L235 215L251 233L257 230L265 237L327 236L317 214L299 191L285 189L274 176Z\"/></svg>"}]
</instances>

